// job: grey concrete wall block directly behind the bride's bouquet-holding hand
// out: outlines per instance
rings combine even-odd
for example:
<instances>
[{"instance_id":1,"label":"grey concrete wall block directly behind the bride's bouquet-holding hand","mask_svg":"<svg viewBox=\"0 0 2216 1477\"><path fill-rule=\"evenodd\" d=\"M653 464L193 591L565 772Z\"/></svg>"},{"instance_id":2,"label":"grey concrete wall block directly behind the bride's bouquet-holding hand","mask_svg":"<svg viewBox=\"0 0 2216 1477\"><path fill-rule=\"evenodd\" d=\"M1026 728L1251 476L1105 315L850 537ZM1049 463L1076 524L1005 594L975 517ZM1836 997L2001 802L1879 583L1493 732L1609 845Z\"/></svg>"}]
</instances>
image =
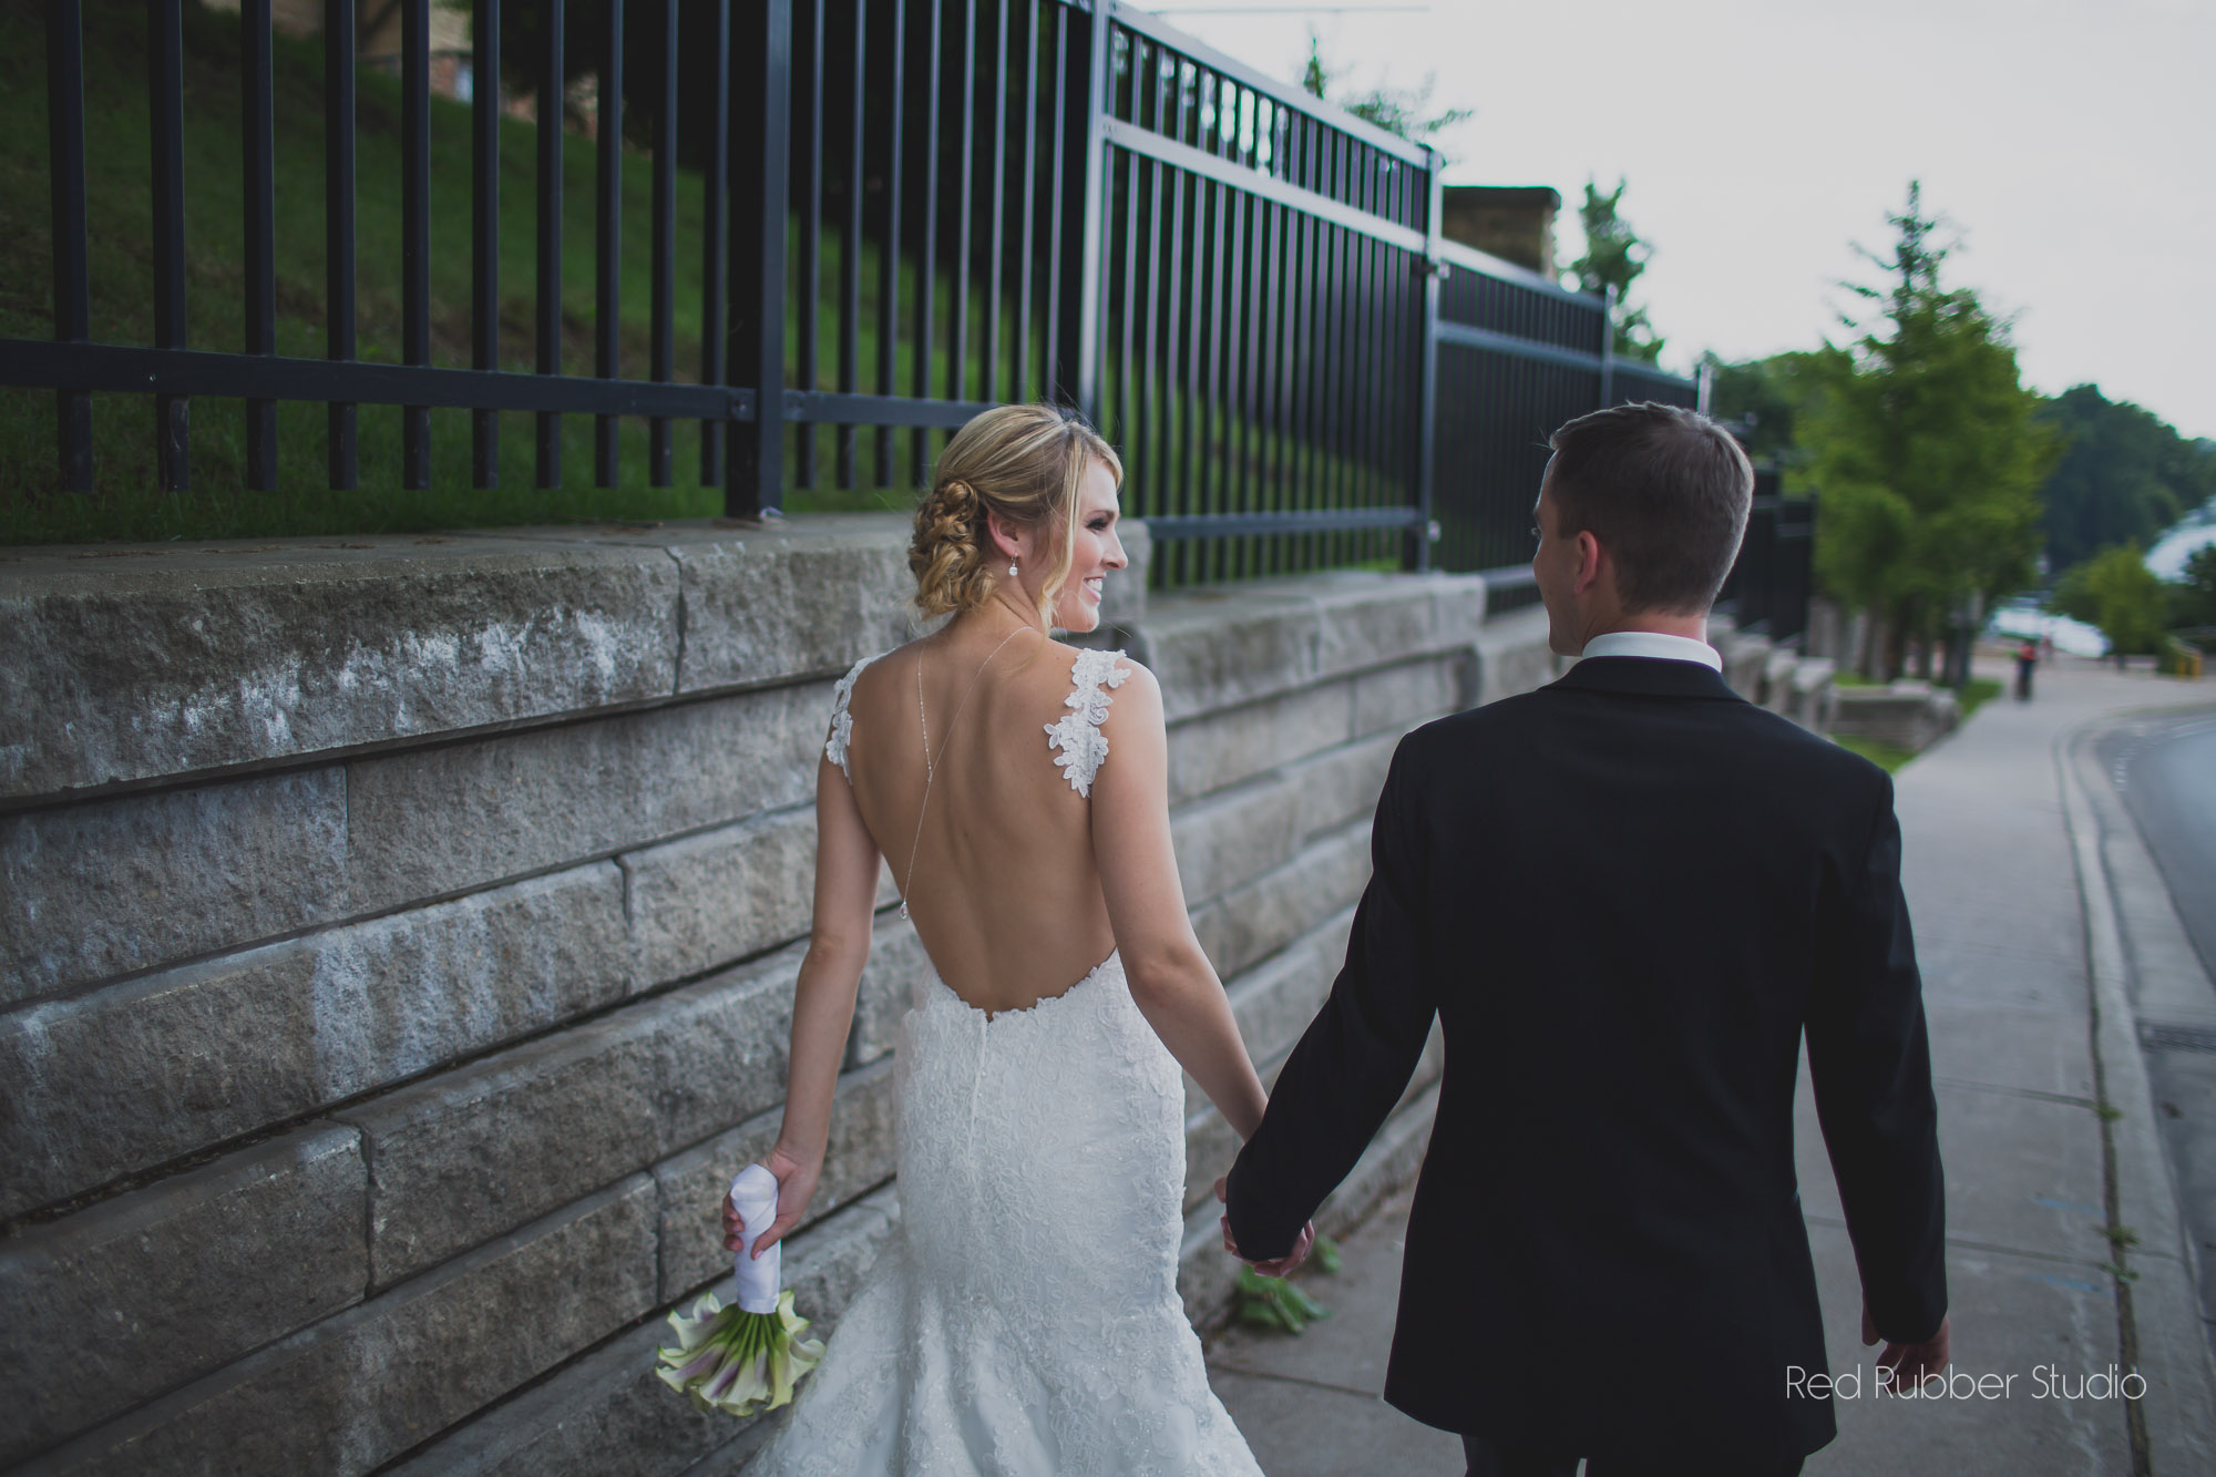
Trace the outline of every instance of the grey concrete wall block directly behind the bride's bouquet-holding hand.
<instances>
[{"instance_id":1,"label":"grey concrete wall block directly behind the bride's bouquet-holding hand","mask_svg":"<svg viewBox=\"0 0 2216 1477\"><path fill-rule=\"evenodd\" d=\"M769 1109L654 1167L663 1206L663 1297L674 1300L729 1273L720 1202L731 1193L731 1175L758 1164L778 1142L782 1120L782 1107ZM811 1226L886 1184L893 1169L893 1058L880 1058L838 1080L822 1175L809 1200L809 1218L800 1224Z\"/></svg>"}]
</instances>

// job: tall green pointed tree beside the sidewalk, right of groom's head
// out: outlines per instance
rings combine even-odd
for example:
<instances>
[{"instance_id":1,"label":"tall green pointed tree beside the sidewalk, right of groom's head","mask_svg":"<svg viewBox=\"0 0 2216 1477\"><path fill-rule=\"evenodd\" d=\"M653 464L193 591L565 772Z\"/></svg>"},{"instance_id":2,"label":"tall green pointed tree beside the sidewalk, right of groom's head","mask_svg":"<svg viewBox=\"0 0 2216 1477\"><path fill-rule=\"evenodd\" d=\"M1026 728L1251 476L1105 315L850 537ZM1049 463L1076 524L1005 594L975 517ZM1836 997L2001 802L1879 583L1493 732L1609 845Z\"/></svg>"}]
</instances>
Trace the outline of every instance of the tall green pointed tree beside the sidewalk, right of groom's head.
<instances>
[{"instance_id":1,"label":"tall green pointed tree beside the sidewalk, right of groom's head","mask_svg":"<svg viewBox=\"0 0 2216 1477\"><path fill-rule=\"evenodd\" d=\"M1819 577L1884 632L1864 674L1897 676L1912 645L1928 676L1935 641L1966 641L1977 597L2030 583L2054 432L2037 419L2008 324L1941 284L1948 248L1915 182L1888 222L1890 255L1861 255L1890 282L1841 284L1866 308L1844 317L1848 344L1810 355L1822 393L1795 430L1822 488Z\"/></svg>"}]
</instances>

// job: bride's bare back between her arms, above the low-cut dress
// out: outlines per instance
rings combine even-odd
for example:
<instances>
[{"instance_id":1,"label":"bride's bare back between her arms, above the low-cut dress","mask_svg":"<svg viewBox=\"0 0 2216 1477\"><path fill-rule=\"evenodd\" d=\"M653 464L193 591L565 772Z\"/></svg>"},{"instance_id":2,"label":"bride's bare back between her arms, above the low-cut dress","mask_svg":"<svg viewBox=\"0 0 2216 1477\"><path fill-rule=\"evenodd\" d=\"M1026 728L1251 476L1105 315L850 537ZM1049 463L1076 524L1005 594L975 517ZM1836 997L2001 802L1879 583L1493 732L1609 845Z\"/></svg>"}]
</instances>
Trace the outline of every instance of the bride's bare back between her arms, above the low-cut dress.
<instances>
[{"instance_id":1,"label":"bride's bare back between her arms, above the low-cut dress","mask_svg":"<svg viewBox=\"0 0 2216 1477\"><path fill-rule=\"evenodd\" d=\"M853 683L847 774L827 778L851 776L931 962L982 1011L1057 996L1117 947L1090 792L1128 727L1106 719L1130 672L1037 630L957 621Z\"/></svg>"}]
</instances>

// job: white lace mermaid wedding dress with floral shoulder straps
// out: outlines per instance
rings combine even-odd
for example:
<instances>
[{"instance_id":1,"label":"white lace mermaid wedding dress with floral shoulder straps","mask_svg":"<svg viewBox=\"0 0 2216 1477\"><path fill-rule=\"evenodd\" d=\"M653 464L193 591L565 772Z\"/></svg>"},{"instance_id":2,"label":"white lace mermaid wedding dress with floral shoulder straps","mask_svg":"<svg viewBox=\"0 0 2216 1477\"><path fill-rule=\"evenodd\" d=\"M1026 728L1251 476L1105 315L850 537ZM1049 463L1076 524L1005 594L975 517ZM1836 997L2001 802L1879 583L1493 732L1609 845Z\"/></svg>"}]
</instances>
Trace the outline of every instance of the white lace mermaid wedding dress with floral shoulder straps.
<instances>
[{"instance_id":1,"label":"white lace mermaid wedding dress with floral shoulder straps","mask_svg":"<svg viewBox=\"0 0 2216 1477\"><path fill-rule=\"evenodd\" d=\"M1119 656L1079 652L1048 727L1077 794ZM893 1098L900 1224L747 1477L1261 1477L1177 1295L1183 1087L1121 960L991 1020L929 980Z\"/></svg>"}]
</instances>

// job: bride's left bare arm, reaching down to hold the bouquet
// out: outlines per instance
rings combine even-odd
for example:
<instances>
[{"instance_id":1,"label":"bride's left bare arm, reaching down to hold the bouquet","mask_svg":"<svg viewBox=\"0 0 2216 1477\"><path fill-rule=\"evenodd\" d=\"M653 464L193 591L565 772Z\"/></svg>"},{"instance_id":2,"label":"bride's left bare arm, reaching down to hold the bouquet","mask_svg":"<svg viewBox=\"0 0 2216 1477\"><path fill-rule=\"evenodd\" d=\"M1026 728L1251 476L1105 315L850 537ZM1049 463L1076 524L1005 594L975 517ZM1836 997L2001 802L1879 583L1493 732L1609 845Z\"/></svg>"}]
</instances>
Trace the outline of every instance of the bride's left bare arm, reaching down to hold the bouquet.
<instances>
[{"instance_id":1,"label":"bride's left bare arm, reaching down to hold the bouquet","mask_svg":"<svg viewBox=\"0 0 2216 1477\"><path fill-rule=\"evenodd\" d=\"M869 962L878 905L878 843L853 787L829 758L815 770L815 925L793 991L793 1049L784 1076L784 1124L762 1160L778 1175L778 1220L756 1242L776 1246L807 1215L831 1138L831 1091L847 1058L853 998ZM725 1246L738 1251L738 1218L725 1204Z\"/></svg>"}]
</instances>

